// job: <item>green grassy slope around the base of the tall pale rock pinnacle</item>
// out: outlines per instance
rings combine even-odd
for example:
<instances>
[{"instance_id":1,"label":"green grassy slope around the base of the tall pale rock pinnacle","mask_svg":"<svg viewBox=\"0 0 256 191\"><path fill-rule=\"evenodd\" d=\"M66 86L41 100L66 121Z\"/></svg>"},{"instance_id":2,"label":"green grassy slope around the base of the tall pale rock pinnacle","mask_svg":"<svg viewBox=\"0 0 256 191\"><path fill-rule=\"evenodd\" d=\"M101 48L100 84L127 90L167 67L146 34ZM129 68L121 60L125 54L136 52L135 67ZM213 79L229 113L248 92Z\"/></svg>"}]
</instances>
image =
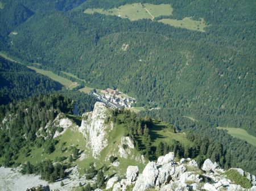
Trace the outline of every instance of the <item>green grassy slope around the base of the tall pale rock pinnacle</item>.
<instances>
[{"instance_id":1,"label":"green grassy slope around the base of the tall pale rock pinnacle","mask_svg":"<svg viewBox=\"0 0 256 191\"><path fill-rule=\"evenodd\" d=\"M68 128L64 132L64 134L56 138L59 142L55 145L55 151L53 151L51 154L45 153L43 147L32 147L30 156L26 157L21 153L16 162L23 164L24 162L27 162L29 160L32 164L36 164L46 159L55 160L57 156L66 156L68 158L68 156L72 154L72 151L69 150L69 148L71 146L76 146L85 153L86 157L84 159L77 159L73 163L73 165L78 165L79 171L81 173L84 173L84 169L87 168L90 163L96 163L97 169L101 168L104 164L109 166L110 162L108 160L108 157L113 153L117 152L117 146L120 145L121 137L124 134L125 129L123 125L115 125L113 130L110 131L108 135L108 146L101 151L101 155L98 159L94 159L92 157L92 152L88 148L86 148L85 138L82 133L80 133L80 131L77 130L76 127ZM61 145L64 142L66 142L64 147L67 147L67 151L61 152ZM141 153L137 150L131 150L131 155L139 157L141 156ZM68 159L66 159L66 161L67 160ZM143 169L144 167L144 164L137 162L135 159L118 158L118 160L121 164L118 167L111 167L109 171L106 172L106 174L113 175L114 173L118 173L119 175L124 175L126 173L128 165L138 165L140 169Z\"/></svg>"}]
</instances>

